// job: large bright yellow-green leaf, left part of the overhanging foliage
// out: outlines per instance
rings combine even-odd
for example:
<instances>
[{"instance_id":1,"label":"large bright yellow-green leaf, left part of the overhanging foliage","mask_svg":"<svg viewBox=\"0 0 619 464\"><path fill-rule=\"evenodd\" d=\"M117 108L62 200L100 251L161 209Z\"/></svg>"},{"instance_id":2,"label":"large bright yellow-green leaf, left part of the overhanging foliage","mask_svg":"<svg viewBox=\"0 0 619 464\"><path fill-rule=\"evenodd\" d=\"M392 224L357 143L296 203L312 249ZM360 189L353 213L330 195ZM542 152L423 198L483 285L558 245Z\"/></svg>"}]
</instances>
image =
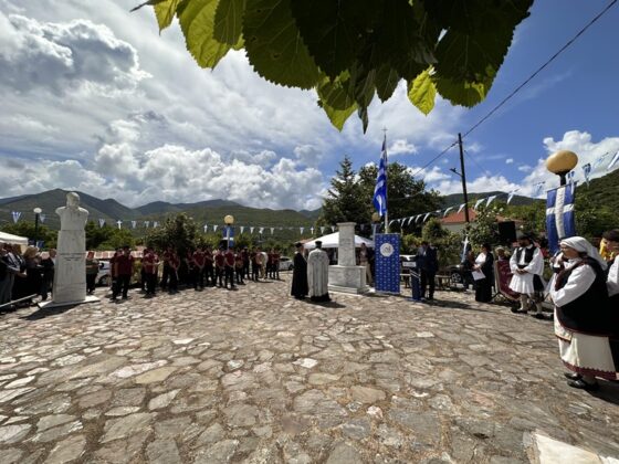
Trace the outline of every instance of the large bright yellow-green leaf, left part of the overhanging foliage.
<instances>
[{"instance_id":1,"label":"large bright yellow-green leaf, left part of the overhanging foliage","mask_svg":"<svg viewBox=\"0 0 619 464\"><path fill-rule=\"evenodd\" d=\"M185 0L178 9L187 50L201 67L214 67L231 45L214 39L214 17L219 0Z\"/></svg>"}]
</instances>

